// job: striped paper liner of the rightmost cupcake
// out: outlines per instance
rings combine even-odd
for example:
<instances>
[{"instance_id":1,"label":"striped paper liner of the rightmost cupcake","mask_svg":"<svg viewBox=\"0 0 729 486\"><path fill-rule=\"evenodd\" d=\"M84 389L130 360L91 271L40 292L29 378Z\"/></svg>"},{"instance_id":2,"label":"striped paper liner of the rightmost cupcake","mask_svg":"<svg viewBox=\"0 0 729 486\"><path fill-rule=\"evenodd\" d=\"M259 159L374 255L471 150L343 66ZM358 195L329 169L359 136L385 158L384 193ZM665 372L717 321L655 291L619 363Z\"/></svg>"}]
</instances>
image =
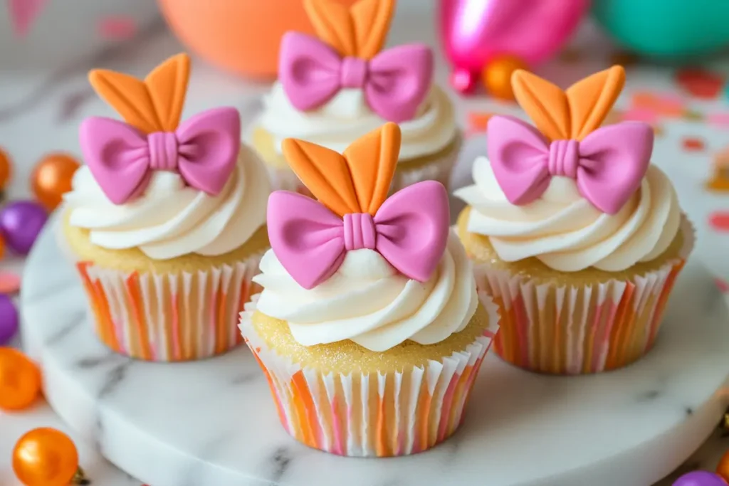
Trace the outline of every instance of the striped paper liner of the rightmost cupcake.
<instances>
[{"instance_id":1,"label":"striped paper liner of the rightmost cupcake","mask_svg":"<svg viewBox=\"0 0 729 486\"><path fill-rule=\"evenodd\" d=\"M631 281L558 285L475 264L478 289L502 308L494 350L518 367L556 375L604 372L638 360L655 342L668 295L693 249L695 232L685 216L681 231L679 258Z\"/></svg>"}]
</instances>

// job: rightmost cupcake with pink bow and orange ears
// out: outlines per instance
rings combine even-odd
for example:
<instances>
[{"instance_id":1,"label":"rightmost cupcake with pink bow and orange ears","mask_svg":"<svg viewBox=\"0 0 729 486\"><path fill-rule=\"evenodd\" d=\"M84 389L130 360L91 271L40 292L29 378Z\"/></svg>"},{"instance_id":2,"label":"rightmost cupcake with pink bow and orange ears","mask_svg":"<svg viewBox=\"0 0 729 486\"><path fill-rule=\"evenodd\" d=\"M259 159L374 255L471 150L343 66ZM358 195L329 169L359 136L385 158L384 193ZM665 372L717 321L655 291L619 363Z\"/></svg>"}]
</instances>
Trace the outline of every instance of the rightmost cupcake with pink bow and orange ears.
<instances>
[{"instance_id":1,"label":"rightmost cupcake with pink bow and orange ears","mask_svg":"<svg viewBox=\"0 0 729 486\"><path fill-rule=\"evenodd\" d=\"M516 71L536 128L491 118L488 159L456 191L477 286L502 309L494 348L518 367L578 375L644 356L693 248L671 181L650 164L652 128L601 127L624 81L615 66L563 92Z\"/></svg>"}]
</instances>

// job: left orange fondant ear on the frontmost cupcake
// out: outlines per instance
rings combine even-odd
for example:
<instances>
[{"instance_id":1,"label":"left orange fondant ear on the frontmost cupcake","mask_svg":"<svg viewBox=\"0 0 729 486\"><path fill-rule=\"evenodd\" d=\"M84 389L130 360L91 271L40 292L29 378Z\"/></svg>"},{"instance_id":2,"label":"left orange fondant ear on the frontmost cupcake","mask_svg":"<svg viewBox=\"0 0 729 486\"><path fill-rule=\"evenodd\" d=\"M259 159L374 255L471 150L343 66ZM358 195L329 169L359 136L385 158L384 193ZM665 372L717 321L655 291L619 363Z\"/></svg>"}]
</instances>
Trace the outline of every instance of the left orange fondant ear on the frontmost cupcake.
<instances>
[{"instance_id":1,"label":"left orange fondant ear on the frontmost cupcake","mask_svg":"<svg viewBox=\"0 0 729 486\"><path fill-rule=\"evenodd\" d=\"M311 142L286 138L286 161L311 194L335 214L361 213L345 158Z\"/></svg>"}]
</instances>

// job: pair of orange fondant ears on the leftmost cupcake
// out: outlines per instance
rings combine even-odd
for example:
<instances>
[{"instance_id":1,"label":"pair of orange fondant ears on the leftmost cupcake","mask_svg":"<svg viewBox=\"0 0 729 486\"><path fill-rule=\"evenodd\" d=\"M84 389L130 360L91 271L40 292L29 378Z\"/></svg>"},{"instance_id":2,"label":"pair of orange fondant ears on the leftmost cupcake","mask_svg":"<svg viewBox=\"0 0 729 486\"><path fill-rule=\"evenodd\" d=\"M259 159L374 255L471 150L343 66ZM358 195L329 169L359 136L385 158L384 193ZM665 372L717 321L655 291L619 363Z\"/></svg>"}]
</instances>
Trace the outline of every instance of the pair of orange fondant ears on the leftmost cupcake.
<instances>
[{"instance_id":1,"label":"pair of orange fondant ears on the leftmost cupcake","mask_svg":"<svg viewBox=\"0 0 729 486\"><path fill-rule=\"evenodd\" d=\"M165 60L144 81L106 69L89 73L96 93L126 122L144 133L171 132L177 128L188 79L190 57L187 54Z\"/></svg>"}]
</instances>

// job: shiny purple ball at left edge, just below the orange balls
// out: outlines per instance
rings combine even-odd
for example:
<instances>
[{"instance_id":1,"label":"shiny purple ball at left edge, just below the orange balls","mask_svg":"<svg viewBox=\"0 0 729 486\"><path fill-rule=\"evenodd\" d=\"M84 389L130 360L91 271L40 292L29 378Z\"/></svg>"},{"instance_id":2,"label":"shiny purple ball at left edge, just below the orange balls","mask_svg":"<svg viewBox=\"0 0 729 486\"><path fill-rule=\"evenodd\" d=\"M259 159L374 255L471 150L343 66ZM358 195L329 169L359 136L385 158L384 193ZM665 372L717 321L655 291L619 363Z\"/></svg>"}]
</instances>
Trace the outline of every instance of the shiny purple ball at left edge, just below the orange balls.
<instances>
[{"instance_id":1,"label":"shiny purple ball at left edge, just below the orange balls","mask_svg":"<svg viewBox=\"0 0 729 486\"><path fill-rule=\"evenodd\" d=\"M15 201L0 211L0 232L12 251L27 255L48 220L45 208L34 201Z\"/></svg>"}]
</instances>

